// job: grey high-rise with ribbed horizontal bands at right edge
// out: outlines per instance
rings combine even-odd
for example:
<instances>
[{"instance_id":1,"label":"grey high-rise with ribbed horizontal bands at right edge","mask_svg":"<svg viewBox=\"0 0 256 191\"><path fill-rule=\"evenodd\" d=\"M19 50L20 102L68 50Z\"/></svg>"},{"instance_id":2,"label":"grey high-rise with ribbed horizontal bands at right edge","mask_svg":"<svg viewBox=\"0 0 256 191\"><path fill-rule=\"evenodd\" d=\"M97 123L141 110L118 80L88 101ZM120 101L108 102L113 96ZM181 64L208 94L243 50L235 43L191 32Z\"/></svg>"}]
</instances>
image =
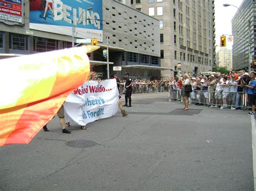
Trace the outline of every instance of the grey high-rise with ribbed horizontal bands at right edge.
<instances>
[{"instance_id":1,"label":"grey high-rise with ribbed horizontal bands at right edge","mask_svg":"<svg viewBox=\"0 0 256 191\"><path fill-rule=\"evenodd\" d=\"M233 42L233 68L236 70L247 69L250 60L256 60L256 2L254 0L244 0L232 19ZM248 20L250 20L250 32L248 30ZM237 37L237 38L236 38ZM248 42L250 40L250 50ZM250 61L250 63L252 63Z\"/></svg>"}]
</instances>

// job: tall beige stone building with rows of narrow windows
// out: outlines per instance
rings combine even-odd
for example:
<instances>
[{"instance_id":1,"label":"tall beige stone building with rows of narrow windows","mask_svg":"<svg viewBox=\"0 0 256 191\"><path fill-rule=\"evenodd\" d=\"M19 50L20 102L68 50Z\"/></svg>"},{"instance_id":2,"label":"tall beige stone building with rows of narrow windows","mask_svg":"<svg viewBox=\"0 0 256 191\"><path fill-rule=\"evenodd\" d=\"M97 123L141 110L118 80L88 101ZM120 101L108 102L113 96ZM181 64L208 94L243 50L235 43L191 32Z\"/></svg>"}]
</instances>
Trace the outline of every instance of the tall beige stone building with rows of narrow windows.
<instances>
[{"instance_id":1,"label":"tall beige stone building with rows of narrow windows","mask_svg":"<svg viewBox=\"0 0 256 191\"><path fill-rule=\"evenodd\" d=\"M182 72L198 75L215 66L214 1L132 0L131 6L159 20L163 76Z\"/></svg>"}]
</instances>

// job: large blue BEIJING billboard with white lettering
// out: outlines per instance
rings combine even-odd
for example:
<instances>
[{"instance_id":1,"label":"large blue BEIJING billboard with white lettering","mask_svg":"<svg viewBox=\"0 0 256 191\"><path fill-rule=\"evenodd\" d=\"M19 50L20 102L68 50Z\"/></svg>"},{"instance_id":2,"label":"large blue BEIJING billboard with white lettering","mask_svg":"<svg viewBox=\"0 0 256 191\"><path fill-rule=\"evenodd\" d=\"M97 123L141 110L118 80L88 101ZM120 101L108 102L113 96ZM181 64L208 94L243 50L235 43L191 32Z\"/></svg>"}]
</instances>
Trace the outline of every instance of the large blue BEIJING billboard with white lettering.
<instances>
[{"instance_id":1,"label":"large blue BEIJING billboard with white lettering","mask_svg":"<svg viewBox=\"0 0 256 191\"><path fill-rule=\"evenodd\" d=\"M103 40L102 0L33 0L29 18L33 30Z\"/></svg>"}]
</instances>

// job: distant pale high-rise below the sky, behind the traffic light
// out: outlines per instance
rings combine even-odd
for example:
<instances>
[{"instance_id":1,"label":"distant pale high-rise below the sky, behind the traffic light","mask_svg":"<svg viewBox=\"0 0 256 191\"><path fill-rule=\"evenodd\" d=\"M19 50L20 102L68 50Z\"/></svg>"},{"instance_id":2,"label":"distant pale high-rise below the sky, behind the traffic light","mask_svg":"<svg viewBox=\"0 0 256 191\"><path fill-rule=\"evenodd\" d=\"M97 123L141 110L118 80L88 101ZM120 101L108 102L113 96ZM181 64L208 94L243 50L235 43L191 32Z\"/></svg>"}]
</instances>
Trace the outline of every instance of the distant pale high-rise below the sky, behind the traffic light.
<instances>
[{"instance_id":1,"label":"distant pale high-rise below the sky, behind the traffic light","mask_svg":"<svg viewBox=\"0 0 256 191\"><path fill-rule=\"evenodd\" d=\"M216 54L216 63L219 67L233 69L232 66L232 50L227 48L220 48Z\"/></svg>"}]
</instances>

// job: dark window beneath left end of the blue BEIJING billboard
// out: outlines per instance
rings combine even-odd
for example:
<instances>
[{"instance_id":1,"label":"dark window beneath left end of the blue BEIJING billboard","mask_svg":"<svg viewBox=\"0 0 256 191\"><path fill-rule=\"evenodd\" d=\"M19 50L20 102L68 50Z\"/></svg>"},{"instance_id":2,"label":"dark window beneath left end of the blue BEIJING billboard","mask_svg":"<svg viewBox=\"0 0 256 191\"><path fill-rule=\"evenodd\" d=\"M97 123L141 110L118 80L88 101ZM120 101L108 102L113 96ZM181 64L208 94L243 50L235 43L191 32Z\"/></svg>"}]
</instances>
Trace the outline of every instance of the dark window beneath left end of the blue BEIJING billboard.
<instances>
[{"instance_id":1,"label":"dark window beneath left end of the blue BEIJING billboard","mask_svg":"<svg viewBox=\"0 0 256 191\"><path fill-rule=\"evenodd\" d=\"M34 51L35 52L47 52L55 51L58 49L58 41L53 39L46 39L41 37L34 38Z\"/></svg>"}]
</instances>

